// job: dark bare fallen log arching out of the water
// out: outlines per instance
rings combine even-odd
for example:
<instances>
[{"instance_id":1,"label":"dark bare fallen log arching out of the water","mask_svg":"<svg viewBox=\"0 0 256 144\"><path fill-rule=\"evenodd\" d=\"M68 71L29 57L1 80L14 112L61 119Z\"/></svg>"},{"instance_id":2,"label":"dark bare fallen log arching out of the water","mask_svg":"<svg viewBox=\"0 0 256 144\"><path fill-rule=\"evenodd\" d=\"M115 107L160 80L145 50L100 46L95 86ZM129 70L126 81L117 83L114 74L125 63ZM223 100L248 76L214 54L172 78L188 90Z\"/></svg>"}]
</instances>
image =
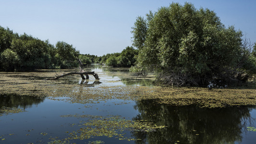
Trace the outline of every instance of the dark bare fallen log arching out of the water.
<instances>
[{"instance_id":1,"label":"dark bare fallen log arching out of the water","mask_svg":"<svg viewBox=\"0 0 256 144\"><path fill-rule=\"evenodd\" d=\"M56 77L54 77L54 78L48 78L48 79L46 79L46 80L57 80L57 79L59 79L59 78L61 78L61 77L64 77L64 76L67 76L67 75L72 75L72 74L80 74L80 76L82 77L83 80L89 79L89 75L88 75L88 74L93 75L96 80L99 80L99 79L100 79L99 76L98 76L98 74L95 73L95 72L85 72L85 71L83 70L83 64L82 64L82 62L81 62L80 59L78 59L78 62L79 62L79 71L80 71L80 72L69 72L69 73L65 73L65 74L63 74L63 75L56 75ZM86 76L86 78L84 77L84 75Z\"/></svg>"}]
</instances>

